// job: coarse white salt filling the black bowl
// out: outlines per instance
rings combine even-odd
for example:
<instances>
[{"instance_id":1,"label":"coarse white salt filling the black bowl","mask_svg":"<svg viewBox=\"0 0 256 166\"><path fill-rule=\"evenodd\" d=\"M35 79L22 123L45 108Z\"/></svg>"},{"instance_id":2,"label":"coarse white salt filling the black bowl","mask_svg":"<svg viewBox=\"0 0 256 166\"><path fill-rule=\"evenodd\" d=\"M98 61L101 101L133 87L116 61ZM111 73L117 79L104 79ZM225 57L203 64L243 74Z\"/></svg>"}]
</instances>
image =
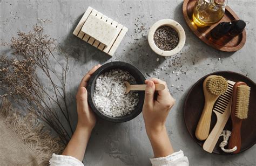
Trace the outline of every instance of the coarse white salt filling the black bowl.
<instances>
[{"instance_id":1,"label":"coarse white salt filling the black bowl","mask_svg":"<svg viewBox=\"0 0 256 166\"><path fill-rule=\"evenodd\" d=\"M130 91L125 94L125 81L131 85L136 84L136 80L129 72L120 69L99 75L93 99L102 113L113 117L124 116L130 114L138 105L138 92Z\"/></svg>"}]
</instances>

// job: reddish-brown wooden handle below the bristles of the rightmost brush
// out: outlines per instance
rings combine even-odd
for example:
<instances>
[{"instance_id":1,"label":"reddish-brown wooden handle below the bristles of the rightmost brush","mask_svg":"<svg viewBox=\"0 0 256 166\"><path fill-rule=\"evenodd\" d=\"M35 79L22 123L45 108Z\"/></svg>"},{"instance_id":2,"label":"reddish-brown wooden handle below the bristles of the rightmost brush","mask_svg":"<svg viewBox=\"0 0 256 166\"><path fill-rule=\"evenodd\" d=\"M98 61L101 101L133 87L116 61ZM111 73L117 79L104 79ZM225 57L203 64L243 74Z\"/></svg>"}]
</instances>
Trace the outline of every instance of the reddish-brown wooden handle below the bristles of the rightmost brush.
<instances>
[{"instance_id":1,"label":"reddish-brown wooden handle below the bristles of the rightmost brush","mask_svg":"<svg viewBox=\"0 0 256 166\"><path fill-rule=\"evenodd\" d=\"M235 150L233 154L237 154L241 150L241 126L242 121L232 122L232 133L228 141L228 149L232 149L236 146L237 150Z\"/></svg>"}]
</instances>

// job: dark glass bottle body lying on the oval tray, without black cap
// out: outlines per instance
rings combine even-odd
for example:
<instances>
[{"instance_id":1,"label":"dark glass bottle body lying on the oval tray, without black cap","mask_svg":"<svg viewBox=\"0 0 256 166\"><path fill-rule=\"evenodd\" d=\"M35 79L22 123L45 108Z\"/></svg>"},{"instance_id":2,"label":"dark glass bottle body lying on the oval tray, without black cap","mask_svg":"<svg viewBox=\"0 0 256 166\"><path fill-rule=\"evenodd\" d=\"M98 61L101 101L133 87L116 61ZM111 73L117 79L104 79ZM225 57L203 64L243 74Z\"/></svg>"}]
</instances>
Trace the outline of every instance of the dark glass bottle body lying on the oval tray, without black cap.
<instances>
[{"instance_id":1,"label":"dark glass bottle body lying on the oval tray, without black cap","mask_svg":"<svg viewBox=\"0 0 256 166\"><path fill-rule=\"evenodd\" d=\"M231 27L232 27L231 22L219 23L217 26L215 26L211 30L212 38L219 39L219 38L225 36L225 34L227 34L231 30Z\"/></svg>"}]
</instances>

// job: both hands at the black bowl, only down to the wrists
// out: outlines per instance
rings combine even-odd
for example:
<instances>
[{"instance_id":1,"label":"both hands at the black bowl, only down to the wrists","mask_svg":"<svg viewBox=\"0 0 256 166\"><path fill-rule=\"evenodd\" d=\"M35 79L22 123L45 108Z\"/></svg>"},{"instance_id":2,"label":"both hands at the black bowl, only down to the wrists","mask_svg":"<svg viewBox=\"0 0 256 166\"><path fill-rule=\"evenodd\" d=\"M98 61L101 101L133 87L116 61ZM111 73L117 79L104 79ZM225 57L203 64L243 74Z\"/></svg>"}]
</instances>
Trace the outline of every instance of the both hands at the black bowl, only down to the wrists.
<instances>
[{"instance_id":1,"label":"both hands at the black bowl, only down to the wrists","mask_svg":"<svg viewBox=\"0 0 256 166\"><path fill-rule=\"evenodd\" d=\"M91 75L100 67L97 65L93 67L80 82L78 92L76 95L77 101L77 114L78 114L78 127L92 130L96 125L96 116L92 112L87 102L87 81L89 81ZM152 78L145 81L147 84L145 90L145 100L143 105L143 118L145 122L147 135L152 135L165 127L165 121L170 109L174 105L174 99L172 98L165 81L157 78ZM157 96L155 94L155 84L164 84L165 89L158 91Z\"/></svg>"}]
</instances>

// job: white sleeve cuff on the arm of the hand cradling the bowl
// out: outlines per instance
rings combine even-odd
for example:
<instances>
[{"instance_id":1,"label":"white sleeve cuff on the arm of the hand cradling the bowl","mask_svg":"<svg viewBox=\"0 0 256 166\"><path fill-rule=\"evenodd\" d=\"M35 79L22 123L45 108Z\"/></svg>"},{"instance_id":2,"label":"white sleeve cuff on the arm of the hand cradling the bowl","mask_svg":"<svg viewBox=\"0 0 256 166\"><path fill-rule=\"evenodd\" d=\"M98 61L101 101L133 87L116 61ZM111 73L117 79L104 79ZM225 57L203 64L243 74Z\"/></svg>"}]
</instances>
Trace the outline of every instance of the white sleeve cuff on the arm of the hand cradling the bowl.
<instances>
[{"instance_id":1,"label":"white sleeve cuff on the arm of the hand cradling the bowl","mask_svg":"<svg viewBox=\"0 0 256 166\"><path fill-rule=\"evenodd\" d=\"M84 166L84 164L75 157L65 156L65 155L56 155L56 154L52 154L52 158L49 161L49 163L51 166L60 166L60 165Z\"/></svg>"}]
</instances>

